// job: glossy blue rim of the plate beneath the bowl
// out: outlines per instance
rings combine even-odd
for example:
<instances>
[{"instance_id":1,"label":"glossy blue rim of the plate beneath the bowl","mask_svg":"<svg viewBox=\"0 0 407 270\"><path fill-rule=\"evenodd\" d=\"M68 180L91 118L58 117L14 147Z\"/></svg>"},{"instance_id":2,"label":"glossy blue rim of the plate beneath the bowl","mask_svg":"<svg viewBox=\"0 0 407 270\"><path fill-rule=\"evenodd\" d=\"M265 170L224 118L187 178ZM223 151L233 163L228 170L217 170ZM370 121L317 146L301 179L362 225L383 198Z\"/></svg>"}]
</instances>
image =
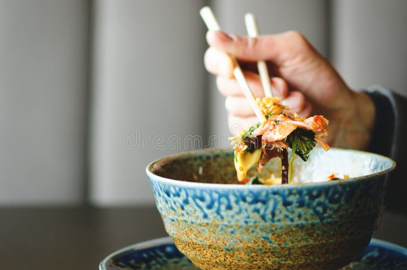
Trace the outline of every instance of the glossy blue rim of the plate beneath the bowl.
<instances>
[{"instance_id":1,"label":"glossy blue rim of the plate beneath the bowl","mask_svg":"<svg viewBox=\"0 0 407 270\"><path fill-rule=\"evenodd\" d=\"M151 240L146 240L146 241L142 241L139 242L137 244L133 244L127 247L124 247L120 250L117 250L113 253L110 253L109 255L107 255L100 263L99 263L99 270L107 270L105 267L105 264L109 261L110 258L117 256L119 254L122 254L124 252L127 252L129 250L140 250L140 249L147 249L147 248L152 248L158 245L166 245L166 244L173 244L174 242L172 241L171 237L169 236L164 236L164 237L160 237L160 238L155 238L155 239L151 239ZM392 251L396 251L398 253L401 253L405 256L407 256L407 248L404 248L400 245L394 244L392 242L389 241L385 241L382 239L377 239L377 238L372 238L369 242L369 245L375 245L375 246L379 246L382 248L386 248L386 249L390 249Z\"/></svg>"}]
</instances>

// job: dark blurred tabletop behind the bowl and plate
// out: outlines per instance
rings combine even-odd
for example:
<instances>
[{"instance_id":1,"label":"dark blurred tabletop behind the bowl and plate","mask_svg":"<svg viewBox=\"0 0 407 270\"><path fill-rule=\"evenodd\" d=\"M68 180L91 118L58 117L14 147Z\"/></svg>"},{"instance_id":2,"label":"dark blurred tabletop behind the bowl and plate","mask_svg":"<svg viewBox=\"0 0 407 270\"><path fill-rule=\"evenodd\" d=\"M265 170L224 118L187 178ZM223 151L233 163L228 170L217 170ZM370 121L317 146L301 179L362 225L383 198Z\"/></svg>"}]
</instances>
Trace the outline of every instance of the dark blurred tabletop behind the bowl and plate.
<instances>
[{"instance_id":1,"label":"dark blurred tabletop behind the bowl and plate","mask_svg":"<svg viewBox=\"0 0 407 270\"><path fill-rule=\"evenodd\" d=\"M0 208L0 269L88 270L111 252L166 236L154 207ZM385 213L376 238L407 247L407 218Z\"/></svg>"}]
</instances>

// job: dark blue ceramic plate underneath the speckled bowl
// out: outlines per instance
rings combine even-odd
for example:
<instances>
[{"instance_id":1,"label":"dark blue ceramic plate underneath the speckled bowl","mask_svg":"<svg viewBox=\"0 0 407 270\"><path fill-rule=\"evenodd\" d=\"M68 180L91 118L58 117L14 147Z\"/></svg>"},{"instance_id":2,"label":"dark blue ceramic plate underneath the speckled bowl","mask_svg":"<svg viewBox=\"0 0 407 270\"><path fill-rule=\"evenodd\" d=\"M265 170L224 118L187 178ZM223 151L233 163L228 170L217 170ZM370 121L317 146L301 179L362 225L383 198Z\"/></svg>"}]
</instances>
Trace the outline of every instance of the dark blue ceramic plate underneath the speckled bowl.
<instances>
[{"instance_id":1,"label":"dark blue ceramic plate underneath the speckled bowl","mask_svg":"<svg viewBox=\"0 0 407 270\"><path fill-rule=\"evenodd\" d=\"M99 265L100 270L185 269L199 270L178 251L171 238L141 242L114 252ZM349 265L341 269L407 269L407 249L372 239L369 246Z\"/></svg>"}]
</instances>

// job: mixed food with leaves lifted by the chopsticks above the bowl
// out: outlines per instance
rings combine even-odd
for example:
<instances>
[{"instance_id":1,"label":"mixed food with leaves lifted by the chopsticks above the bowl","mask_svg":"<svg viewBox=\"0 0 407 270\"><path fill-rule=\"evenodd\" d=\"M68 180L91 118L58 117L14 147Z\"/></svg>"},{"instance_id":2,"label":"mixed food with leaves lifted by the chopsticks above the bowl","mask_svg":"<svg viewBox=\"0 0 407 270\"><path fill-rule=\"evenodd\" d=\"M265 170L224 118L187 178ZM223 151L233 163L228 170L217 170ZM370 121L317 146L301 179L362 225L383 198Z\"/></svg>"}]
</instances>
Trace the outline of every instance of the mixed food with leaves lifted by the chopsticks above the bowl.
<instances>
[{"instance_id":1,"label":"mixed food with leaves lifted by the chopsticks above the bowl","mask_svg":"<svg viewBox=\"0 0 407 270\"><path fill-rule=\"evenodd\" d=\"M281 159L280 180L270 176L267 179L257 178L261 184L290 183L293 179L294 156L308 160L310 151L316 144L326 151L329 145L323 138L328 135L328 120L322 115L303 118L294 114L283 113L290 107L281 104L275 97L256 99L258 107L266 116L267 121L257 123L242 130L236 137L230 138L235 150L235 168L239 181L252 183L246 178L247 172L257 164L260 172L274 157ZM292 149L288 159L288 148Z\"/></svg>"}]
</instances>

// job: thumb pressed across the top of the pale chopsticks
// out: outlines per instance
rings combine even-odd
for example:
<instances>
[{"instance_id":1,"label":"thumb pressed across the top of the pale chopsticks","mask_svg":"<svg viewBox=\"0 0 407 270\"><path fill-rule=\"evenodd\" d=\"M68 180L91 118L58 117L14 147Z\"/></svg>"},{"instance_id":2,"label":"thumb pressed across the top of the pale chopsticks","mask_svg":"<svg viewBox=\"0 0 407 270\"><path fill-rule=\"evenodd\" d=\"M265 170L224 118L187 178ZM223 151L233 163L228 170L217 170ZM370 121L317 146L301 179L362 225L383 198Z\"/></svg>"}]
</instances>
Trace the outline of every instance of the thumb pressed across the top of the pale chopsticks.
<instances>
[{"instance_id":1,"label":"thumb pressed across the top of the pale chopsticks","mask_svg":"<svg viewBox=\"0 0 407 270\"><path fill-rule=\"evenodd\" d=\"M226 51L239 60L268 60L278 66L312 48L304 36L295 31L257 38L208 31L207 41L210 46Z\"/></svg>"}]
</instances>

